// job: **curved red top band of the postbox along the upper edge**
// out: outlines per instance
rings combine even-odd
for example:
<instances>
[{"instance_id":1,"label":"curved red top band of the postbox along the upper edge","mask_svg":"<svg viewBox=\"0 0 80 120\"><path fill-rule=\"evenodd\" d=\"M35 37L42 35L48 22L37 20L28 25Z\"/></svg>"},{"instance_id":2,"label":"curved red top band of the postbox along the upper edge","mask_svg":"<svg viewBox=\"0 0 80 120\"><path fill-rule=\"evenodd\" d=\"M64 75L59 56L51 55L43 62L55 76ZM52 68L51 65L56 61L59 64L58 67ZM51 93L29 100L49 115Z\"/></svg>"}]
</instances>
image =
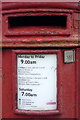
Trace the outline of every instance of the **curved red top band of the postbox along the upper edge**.
<instances>
[{"instance_id":1,"label":"curved red top band of the postbox along the upper edge","mask_svg":"<svg viewBox=\"0 0 80 120\"><path fill-rule=\"evenodd\" d=\"M36 1L36 2L3 2L3 9L16 9L16 8L67 8L67 9L77 9L79 8L78 2L48 2Z\"/></svg>"}]
</instances>

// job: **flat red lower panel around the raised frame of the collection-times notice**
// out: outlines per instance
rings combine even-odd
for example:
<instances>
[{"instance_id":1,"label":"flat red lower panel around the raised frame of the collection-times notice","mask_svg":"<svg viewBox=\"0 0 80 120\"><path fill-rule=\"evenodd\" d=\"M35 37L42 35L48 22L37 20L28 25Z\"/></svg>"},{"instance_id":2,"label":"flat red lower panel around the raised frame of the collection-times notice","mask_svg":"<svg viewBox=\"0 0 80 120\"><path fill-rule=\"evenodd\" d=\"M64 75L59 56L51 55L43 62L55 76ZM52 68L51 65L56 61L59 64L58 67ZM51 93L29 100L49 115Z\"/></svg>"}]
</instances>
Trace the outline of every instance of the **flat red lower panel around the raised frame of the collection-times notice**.
<instances>
[{"instance_id":1,"label":"flat red lower panel around the raised frame of the collection-times notice","mask_svg":"<svg viewBox=\"0 0 80 120\"><path fill-rule=\"evenodd\" d=\"M26 50L27 51L27 50ZM53 50L54 51L54 50ZM76 62L64 64L63 61L63 50L61 50L61 54L59 56L61 59L59 60L60 65L60 102L61 105L61 114L60 115L46 115L47 118L75 118L75 82L76 82L76 74L75 74L75 64ZM14 91L12 89L12 74L13 68L12 66L16 66L15 61L12 63L12 51L11 50L3 50L3 117L4 118L42 118L43 116L26 116L26 115L16 115L13 111L13 94ZM8 59L8 60L7 60ZM13 65L12 65L13 64ZM7 101L7 102L6 102Z\"/></svg>"}]
</instances>

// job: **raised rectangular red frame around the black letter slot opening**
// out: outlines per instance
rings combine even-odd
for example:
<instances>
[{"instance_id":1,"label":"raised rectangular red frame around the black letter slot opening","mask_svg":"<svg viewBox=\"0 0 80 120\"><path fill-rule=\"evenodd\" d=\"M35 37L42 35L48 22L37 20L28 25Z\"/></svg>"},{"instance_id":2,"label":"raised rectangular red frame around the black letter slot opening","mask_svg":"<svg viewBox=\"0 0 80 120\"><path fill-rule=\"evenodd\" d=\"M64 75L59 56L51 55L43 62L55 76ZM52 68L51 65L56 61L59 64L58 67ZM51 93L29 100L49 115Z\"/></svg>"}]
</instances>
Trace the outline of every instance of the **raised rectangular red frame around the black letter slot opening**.
<instances>
[{"instance_id":1,"label":"raised rectangular red frame around the black letter slot opening","mask_svg":"<svg viewBox=\"0 0 80 120\"><path fill-rule=\"evenodd\" d=\"M54 27L54 26L18 26L14 28L9 28L9 17L17 17L17 16L66 16L66 27ZM4 36L40 36L40 35L53 35L53 36L69 36L71 34L71 26L72 26L72 20L70 13L49 13L49 12L36 12L34 13L18 13L18 14L11 14L3 17L3 25L5 24L5 28L3 28L3 35ZM22 22L22 21L21 21ZM33 21L34 22L34 21ZM37 21L36 21L37 22ZM61 22L61 21L60 21ZM7 24L6 24L7 23ZM27 42L27 41L26 41Z\"/></svg>"}]
</instances>

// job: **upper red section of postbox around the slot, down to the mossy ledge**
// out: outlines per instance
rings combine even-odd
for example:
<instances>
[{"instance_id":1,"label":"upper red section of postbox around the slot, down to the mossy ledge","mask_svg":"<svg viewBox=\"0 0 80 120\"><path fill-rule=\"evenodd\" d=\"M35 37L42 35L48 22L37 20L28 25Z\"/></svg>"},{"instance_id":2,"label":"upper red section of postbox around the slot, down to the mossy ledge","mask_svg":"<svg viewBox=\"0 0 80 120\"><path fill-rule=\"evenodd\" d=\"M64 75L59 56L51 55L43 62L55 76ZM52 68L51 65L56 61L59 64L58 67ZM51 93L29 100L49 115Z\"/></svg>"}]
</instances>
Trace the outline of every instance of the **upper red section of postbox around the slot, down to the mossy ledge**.
<instances>
[{"instance_id":1,"label":"upper red section of postbox around the slot, down to the mossy ledge","mask_svg":"<svg viewBox=\"0 0 80 120\"><path fill-rule=\"evenodd\" d=\"M64 8L63 4L65 4ZM42 7L36 8L38 5ZM79 10L77 10L78 3L3 3L2 6L3 47L78 46L78 23L76 17L79 14ZM67 16L67 26L65 28L54 28L52 26L9 28L8 17L53 15ZM77 29L75 29L75 26Z\"/></svg>"}]
</instances>

